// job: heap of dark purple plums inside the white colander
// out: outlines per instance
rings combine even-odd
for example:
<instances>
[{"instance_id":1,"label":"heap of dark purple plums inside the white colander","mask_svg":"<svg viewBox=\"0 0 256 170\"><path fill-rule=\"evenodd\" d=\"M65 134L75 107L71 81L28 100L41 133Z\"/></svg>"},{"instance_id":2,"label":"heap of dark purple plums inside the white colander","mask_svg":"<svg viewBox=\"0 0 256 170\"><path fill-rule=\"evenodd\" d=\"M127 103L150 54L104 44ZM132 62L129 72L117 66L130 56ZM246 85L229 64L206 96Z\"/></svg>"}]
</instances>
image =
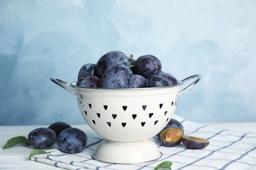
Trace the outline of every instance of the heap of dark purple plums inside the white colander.
<instances>
[{"instance_id":1,"label":"heap of dark purple plums inside the white colander","mask_svg":"<svg viewBox=\"0 0 256 170\"><path fill-rule=\"evenodd\" d=\"M175 76L161 71L161 61L147 54L136 60L123 52L111 51L97 63L86 63L77 76L85 88L152 88L178 84Z\"/></svg>"}]
</instances>

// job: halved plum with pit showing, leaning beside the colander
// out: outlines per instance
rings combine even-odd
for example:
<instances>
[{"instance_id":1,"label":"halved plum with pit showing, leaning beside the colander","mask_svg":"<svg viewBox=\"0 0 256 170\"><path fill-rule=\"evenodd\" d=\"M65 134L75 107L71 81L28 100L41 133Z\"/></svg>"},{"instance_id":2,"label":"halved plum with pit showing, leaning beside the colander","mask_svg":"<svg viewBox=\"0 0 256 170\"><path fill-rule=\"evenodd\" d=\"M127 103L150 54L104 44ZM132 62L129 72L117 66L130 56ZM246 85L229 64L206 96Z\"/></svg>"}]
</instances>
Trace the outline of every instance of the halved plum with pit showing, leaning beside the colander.
<instances>
[{"instance_id":1,"label":"halved plum with pit showing, leaning beside the colander","mask_svg":"<svg viewBox=\"0 0 256 170\"><path fill-rule=\"evenodd\" d=\"M177 146L178 144L181 143L181 135L184 135L184 132L181 128L169 127L161 131L160 141L163 144L163 146Z\"/></svg>"}]
</instances>

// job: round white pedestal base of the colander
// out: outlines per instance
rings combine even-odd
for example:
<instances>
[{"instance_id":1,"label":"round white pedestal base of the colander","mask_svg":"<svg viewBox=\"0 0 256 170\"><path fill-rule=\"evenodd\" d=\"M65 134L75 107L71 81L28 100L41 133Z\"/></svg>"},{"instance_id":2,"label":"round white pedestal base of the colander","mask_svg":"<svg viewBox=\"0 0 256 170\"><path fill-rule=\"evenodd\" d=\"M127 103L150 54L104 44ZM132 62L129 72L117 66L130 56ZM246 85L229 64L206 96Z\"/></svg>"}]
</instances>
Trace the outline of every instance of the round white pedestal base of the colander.
<instances>
[{"instance_id":1,"label":"round white pedestal base of the colander","mask_svg":"<svg viewBox=\"0 0 256 170\"><path fill-rule=\"evenodd\" d=\"M151 140L121 143L104 139L92 155L93 159L107 163L144 163L162 156Z\"/></svg>"}]
</instances>

